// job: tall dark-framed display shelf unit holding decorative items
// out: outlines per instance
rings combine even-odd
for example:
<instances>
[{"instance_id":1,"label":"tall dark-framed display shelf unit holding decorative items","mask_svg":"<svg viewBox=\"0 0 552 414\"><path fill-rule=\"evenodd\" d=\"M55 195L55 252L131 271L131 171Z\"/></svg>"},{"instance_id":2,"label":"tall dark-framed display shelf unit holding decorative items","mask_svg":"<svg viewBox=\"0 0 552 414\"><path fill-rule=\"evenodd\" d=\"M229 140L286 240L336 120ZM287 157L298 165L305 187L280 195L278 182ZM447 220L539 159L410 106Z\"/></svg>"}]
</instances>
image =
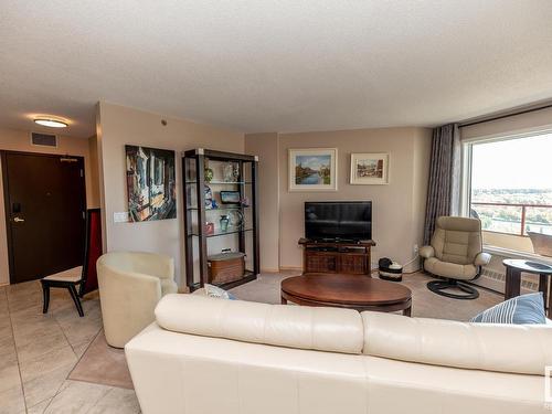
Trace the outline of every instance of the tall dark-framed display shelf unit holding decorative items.
<instances>
[{"instance_id":1,"label":"tall dark-framed display shelf unit holding decorative items","mask_svg":"<svg viewBox=\"0 0 552 414\"><path fill-rule=\"evenodd\" d=\"M206 166L214 172L213 177ZM182 176L185 178L183 253L188 288L193 291L214 283L230 289L256 279L259 273L258 158L191 149L182 155ZM213 278L211 266L216 261L211 261L211 255L208 258L208 252L220 251L221 246L232 248L232 254L240 256L235 263L238 272L231 277Z\"/></svg>"}]
</instances>

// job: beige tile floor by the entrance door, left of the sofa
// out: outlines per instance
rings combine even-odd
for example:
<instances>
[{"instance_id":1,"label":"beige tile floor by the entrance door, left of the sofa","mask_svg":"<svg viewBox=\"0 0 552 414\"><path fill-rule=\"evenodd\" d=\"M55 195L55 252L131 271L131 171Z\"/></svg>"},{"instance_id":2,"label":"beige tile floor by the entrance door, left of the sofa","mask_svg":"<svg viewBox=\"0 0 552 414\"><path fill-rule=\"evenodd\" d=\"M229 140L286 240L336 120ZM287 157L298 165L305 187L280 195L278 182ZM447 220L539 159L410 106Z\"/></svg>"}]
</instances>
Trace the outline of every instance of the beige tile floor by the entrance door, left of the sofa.
<instances>
[{"instance_id":1,"label":"beige tile floor by the entrance door, left of the sofa","mask_svg":"<svg viewBox=\"0 0 552 414\"><path fill-rule=\"evenodd\" d=\"M132 390L67 380L102 329L97 293L83 307L52 289L43 315L39 282L0 287L0 414L139 413Z\"/></svg>"}]
</instances>

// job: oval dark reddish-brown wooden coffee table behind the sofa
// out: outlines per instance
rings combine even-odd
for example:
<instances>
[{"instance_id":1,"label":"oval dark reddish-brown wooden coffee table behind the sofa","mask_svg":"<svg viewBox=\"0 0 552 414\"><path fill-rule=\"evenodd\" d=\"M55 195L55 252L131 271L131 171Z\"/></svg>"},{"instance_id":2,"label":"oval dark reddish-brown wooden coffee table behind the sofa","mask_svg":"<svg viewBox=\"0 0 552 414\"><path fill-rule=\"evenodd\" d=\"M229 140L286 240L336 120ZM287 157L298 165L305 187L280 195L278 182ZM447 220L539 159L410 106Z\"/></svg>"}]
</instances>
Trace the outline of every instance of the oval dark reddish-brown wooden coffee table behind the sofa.
<instances>
[{"instance_id":1,"label":"oval dark reddish-brown wooden coffee table behind the sofa","mask_svg":"<svg viewBox=\"0 0 552 414\"><path fill-rule=\"evenodd\" d=\"M412 291L364 275L304 275L282 280L282 304L393 312L411 316Z\"/></svg>"}]
</instances>

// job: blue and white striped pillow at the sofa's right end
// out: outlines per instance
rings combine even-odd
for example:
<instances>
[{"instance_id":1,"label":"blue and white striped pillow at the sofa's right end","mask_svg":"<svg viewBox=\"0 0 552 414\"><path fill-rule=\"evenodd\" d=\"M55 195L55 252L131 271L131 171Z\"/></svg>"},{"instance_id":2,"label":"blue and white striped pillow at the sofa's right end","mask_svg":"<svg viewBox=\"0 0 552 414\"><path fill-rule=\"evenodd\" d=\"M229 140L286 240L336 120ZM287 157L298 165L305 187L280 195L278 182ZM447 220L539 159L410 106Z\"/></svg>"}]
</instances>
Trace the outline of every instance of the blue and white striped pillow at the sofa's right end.
<instances>
[{"instance_id":1,"label":"blue and white striped pillow at the sofa's right end","mask_svg":"<svg viewBox=\"0 0 552 414\"><path fill-rule=\"evenodd\" d=\"M542 293L528 294L508 299L484 310L470 322L481 323L546 323Z\"/></svg>"}]
</instances>

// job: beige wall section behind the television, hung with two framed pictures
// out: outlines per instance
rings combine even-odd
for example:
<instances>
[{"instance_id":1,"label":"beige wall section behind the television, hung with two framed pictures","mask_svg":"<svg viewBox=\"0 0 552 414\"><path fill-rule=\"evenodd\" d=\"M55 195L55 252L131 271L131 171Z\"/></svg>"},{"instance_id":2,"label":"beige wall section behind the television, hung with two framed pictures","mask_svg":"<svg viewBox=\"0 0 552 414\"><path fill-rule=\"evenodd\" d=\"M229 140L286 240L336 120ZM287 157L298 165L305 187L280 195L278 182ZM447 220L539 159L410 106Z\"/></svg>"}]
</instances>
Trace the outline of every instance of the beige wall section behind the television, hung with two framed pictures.
<instances>
[{"instance_id":1,"label":"beige wall section behind the television, hung with two framed pictures","mask_svg":"<svg viewBox=\"0 0 552 414\"><path fill-rule=\"evenodd\" d=\"M338 148L338 191L289 192L289 148ZM304 202L319 200L372 200L372 235L378 243L372 263L391 257L406 263L421 245L428 177L431 130L424 128L358 129L279 135L279 264L301 267ZM389 152L388 185L350 185L351 152ZM264 195L262 194L262 198ZM417 262L410 267L417 267Z\"/></svg>"}]
</instances>

